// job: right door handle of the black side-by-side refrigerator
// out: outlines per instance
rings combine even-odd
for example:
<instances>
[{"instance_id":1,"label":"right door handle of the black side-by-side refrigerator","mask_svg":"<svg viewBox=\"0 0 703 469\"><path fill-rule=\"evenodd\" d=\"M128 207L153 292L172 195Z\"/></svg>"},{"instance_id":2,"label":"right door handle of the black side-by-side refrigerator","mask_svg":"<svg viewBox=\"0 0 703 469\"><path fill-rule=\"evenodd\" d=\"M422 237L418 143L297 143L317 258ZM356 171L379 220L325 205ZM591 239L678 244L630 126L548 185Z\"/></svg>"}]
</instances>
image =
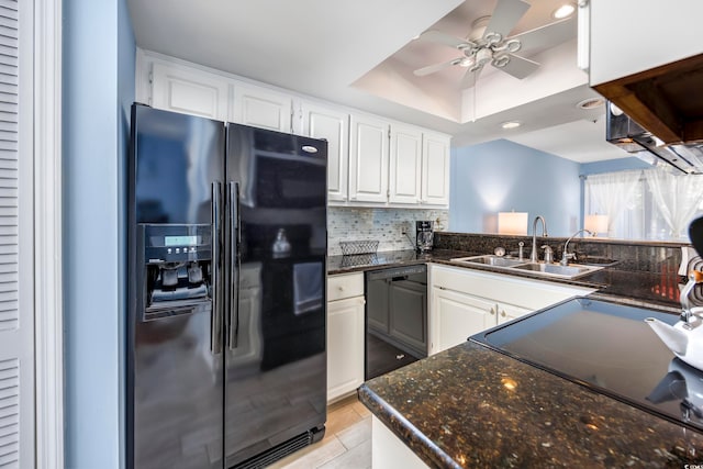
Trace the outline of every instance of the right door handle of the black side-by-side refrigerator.
<instances>
[{"instance_id":1,"label":"right door handle of the black side-by-side refrigerator","mask_svg":"<svg viewBox=\"0 0 703 469\"><path fill-rule=\"evenodd\" d=\"M230 328L227 331L227 343L230 350L237 348L239 332L239 183L227 182L230 197L230 271L232 284L230 286Z\"/></svg>"}]
</instances>

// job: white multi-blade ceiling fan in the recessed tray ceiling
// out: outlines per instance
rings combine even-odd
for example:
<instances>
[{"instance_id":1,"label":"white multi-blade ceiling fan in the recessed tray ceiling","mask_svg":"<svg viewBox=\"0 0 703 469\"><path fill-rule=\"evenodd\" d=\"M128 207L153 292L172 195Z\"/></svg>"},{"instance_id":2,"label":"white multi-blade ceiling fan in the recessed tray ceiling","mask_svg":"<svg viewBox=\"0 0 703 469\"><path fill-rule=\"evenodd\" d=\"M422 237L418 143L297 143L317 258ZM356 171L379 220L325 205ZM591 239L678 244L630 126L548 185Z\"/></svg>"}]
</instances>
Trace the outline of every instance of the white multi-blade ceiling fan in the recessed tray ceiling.
<instances>
[{"instance_id":1,"label":"white multi-blade ceiling fan in the recessed tray ceiling","mask_svg":"<svg viewBox=\"0 0 703 469\"><path fill-rule=\"evenodd\" d=\"M462 88L476 85L481 70L488 64L515 78L527 77L539 67L539 64L520 57L515 53L525 49L527 45L543 48L555 46L557 44L554 43L554 37L561 36L560 33L566 27L571 27L570 19L563 19L516 36L507 36L527 9L529 9L529 3L522 0L498 0L493 14L476 20L473 33L465 40L440 31L425 31L420 35L420 40L455 47L462 55L449 62L419 68L413 74L424 77L451 66L466 67L467 71L461 79ZM480 29L483 25L486 25L486 30L481 34ZM479 31L478 34L477 31Z\"/></svg>"}]
</instances>

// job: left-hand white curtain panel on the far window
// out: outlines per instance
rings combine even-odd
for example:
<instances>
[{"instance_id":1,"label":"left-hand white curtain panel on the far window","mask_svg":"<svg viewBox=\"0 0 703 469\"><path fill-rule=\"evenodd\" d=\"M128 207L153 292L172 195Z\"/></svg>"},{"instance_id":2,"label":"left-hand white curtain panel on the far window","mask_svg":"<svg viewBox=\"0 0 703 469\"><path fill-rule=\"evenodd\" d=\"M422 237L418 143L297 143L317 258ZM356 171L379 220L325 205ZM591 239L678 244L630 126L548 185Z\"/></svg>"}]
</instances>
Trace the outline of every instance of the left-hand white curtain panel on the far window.
<instances>
[{"instance_id":1,"label":"left-hand white curtain panel on the far window","mask_svg":"<svg viewBox=\"0 0 703 469\"><path fill-rule=\"evenodd\" d=\"M593 200L589 211L609 216L609 236L614 235L617 219L632 204L640 176L641 170L635 170L591 175L585 179L587 190Z\"/></svg>"}]
</instances>

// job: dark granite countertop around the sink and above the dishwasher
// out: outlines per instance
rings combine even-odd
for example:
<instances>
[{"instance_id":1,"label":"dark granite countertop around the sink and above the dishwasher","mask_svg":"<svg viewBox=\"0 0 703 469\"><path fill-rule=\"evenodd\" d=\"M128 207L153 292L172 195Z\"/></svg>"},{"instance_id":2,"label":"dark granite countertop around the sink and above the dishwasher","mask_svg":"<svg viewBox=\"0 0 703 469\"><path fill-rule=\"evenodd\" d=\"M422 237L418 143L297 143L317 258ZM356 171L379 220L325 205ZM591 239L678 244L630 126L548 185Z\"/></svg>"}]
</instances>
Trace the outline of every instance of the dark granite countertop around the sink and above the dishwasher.
<instances>
[{"instance_id":1,"label":"dark granite countertop around the sink and above the dishwasher","mask_svg":"<svg viewBox=\"0 0 703 469\"><path fill-rule=\"evenodd\" d=\"M416 265L426 263L445 264L473 270L483 270L494 273L511 275L529 278L533 280L550 281L578 287L593 288L598 297L637 304L669 309L671 312L680 310L680 284L685 283L685 278L676 271L662 270L649 272L641 270L621 270L617 266L605 267L588 276L577 279L545 278L528 271L506 271L490 266L471 266L453 263L456 257L467 257L486 253L472 253L464 250L433 249L425 254L417 254L412 249L391 250L377 254L362 254L357 256L330 256L327 258L327 273L348 273L373 270L387 267Z\"/></svg>"}]
</instances>

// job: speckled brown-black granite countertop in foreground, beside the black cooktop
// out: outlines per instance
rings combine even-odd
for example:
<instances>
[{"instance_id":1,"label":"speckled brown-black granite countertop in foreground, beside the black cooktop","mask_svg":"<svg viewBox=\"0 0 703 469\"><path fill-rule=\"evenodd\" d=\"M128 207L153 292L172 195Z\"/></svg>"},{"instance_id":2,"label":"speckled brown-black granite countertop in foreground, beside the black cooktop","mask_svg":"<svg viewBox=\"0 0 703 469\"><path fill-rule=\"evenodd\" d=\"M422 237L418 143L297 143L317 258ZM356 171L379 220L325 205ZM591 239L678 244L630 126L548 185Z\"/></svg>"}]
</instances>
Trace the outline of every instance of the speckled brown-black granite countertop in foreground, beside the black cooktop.
<instances>
[{"instance_id":1,"label":"speckled brown-black granite countertop in foreground, beside the black cooktop","mask_svg":"<svg viewBox=\"0 0 703 469\"><path fill-rule=\"evenodd\" d=\"M701 433L471 342L358 394L433 468L703 464Z\"/></svg>"}]
</instances>

